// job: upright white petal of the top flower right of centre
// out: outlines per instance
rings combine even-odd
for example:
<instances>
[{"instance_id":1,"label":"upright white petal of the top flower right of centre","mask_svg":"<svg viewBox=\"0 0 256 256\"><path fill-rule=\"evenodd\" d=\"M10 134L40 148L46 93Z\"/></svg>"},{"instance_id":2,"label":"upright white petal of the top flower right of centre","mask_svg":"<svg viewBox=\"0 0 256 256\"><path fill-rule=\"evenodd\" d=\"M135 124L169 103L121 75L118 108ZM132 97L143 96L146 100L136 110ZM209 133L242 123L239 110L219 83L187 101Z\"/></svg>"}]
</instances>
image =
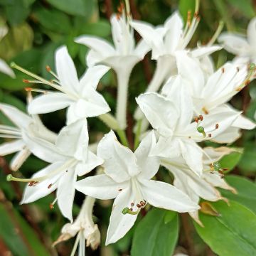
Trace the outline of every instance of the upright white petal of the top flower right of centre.
<instances>
[{"instance_id":1,"label":"upright white petal of the top flower right of centre","mask_svg":"<svg viewBox=\"0 0 256 256\"><path fill-rule=\"evenodd\" d=\"M183 33L183 20L178 11L174 12L164 23L166 28L166 35L164 44L168 53L173 53L178 47Z\"/></svg>"}]
</instances>

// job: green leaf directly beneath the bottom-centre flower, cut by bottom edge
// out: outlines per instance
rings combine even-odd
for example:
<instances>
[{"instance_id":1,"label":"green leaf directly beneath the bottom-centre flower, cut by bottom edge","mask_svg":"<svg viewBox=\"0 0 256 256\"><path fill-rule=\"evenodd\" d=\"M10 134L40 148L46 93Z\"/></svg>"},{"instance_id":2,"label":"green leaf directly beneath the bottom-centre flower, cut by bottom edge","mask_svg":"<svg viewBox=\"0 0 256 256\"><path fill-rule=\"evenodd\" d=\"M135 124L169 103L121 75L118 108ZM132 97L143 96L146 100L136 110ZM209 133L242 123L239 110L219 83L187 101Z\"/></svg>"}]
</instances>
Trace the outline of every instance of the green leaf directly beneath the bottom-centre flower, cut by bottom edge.
<instances>
[{"instance_id":1,"label":"green leaf directly beneath the bottom-centre flower, cut by bottom edge","mask_svg":"<svg viewBox=\"0 0 256 256\"><path fill-rule=\"evenodd\" d=\"M177 240L177 213L153 208L134 232L132 256L173 255Z\"/></svg>"}]
</instances>

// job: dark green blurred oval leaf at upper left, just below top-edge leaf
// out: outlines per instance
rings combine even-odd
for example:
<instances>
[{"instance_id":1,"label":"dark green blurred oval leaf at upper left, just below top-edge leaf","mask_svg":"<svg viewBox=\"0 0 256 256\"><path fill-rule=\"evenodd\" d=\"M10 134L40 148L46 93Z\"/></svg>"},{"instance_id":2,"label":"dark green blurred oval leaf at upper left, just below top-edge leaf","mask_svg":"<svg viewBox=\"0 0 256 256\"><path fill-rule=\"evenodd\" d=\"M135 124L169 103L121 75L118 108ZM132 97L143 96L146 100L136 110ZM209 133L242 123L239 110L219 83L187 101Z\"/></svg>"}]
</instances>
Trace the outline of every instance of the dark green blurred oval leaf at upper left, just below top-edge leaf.
<instances>
[{"instance_id":1,"label":"dark green blurred oval leaf at upper left, just below top-edge leaf","mask_svg":"<svg viewBox=\"0 0 256 256\"><path fill-rule=\"evenodd\" d=\"M41 25L58 33L68 33L71 30L70 19L68 15L55 9L38 9L33 13L33 16L38 20Z\"/></svg>"}]
</instances>

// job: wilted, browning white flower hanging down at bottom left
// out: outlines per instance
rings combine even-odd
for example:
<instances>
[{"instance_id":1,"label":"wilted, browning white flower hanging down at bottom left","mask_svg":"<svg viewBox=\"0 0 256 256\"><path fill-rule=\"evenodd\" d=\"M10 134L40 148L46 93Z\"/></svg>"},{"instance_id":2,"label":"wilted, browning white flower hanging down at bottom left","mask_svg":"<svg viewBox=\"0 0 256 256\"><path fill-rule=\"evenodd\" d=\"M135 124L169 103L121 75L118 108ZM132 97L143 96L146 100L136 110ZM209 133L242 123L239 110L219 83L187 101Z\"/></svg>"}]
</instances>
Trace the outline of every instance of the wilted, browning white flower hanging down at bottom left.
<instances>
[{"instance_id":1,"label":"wilted, browning white flower hanging down at bottom left","mask_svg":"<svg viewBox=\"0 0 256 256\"><path fill-rule=\"evenodd\" d=\"M62 234L58 240L53 243L53 245L73 238L76 235L77 238L72 250L72 253L74 253L73 255L75 255L75 250L79 243L79 255L85 256L85 240L86 246L92 247L92 250L97 249L100 245L100 230L97 224L93 223L92 220L92 208L94 203L95 198L91 198L90 196L85 198L78 218L76 218L73 223L67 223L63 226L61 230Z\"/></svg>"}]
</instances>

